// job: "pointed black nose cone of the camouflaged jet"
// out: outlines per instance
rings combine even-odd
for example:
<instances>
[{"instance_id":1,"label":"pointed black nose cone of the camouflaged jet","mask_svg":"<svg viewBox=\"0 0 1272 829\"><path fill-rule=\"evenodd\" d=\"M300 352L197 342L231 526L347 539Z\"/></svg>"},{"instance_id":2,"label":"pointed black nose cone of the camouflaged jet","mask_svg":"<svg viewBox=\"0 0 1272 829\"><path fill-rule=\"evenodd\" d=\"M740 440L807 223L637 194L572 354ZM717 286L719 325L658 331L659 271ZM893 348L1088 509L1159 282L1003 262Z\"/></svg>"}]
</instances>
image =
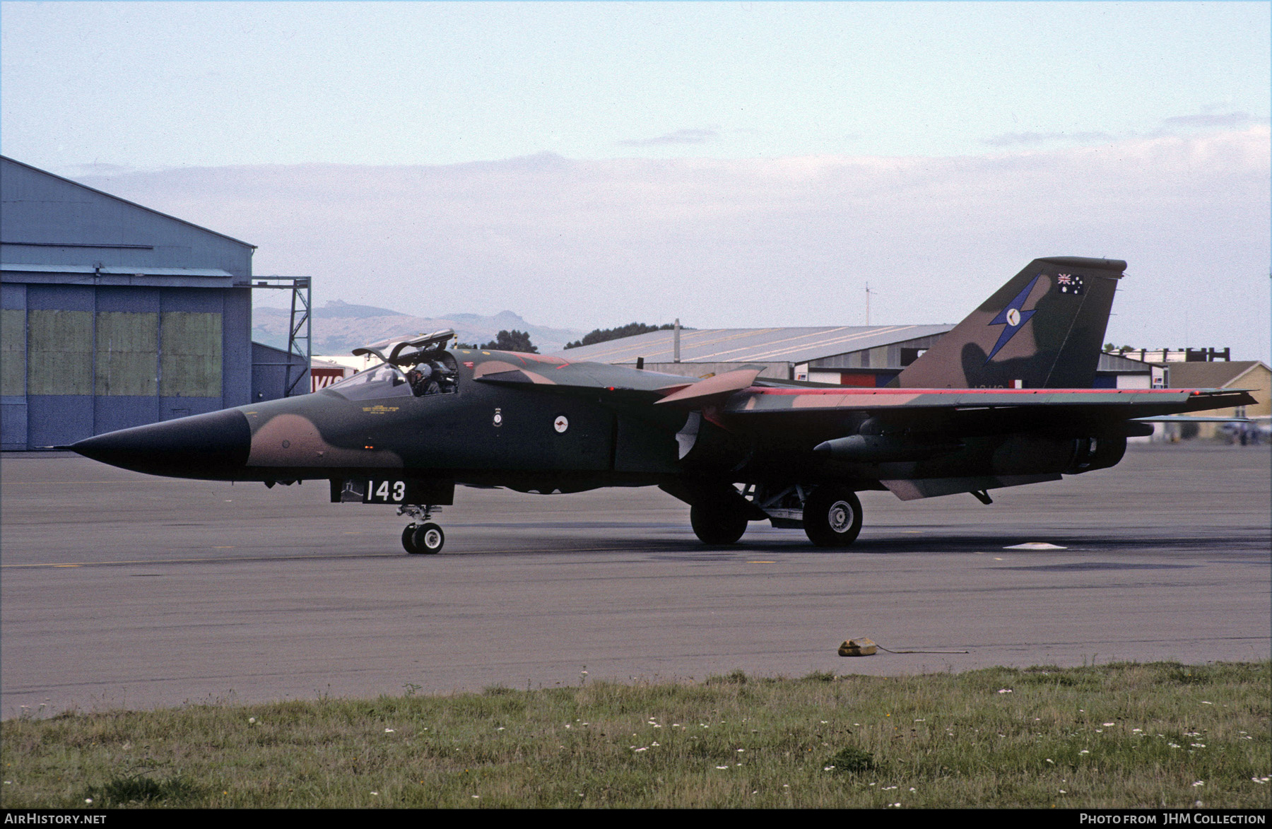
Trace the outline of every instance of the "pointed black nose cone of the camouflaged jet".
<instances>
[{"instance_id":1,"label":"pointed black nose cone of the camouflaged jet","mask_svg":"<svg viewBox=\"0 0 1272 829\"><path fill-rule=\"evenodd\" d=\"M237 409L121 428L73 444L85 458L177 478L233 478L247 464L252 428Z\"/></svg>"}]
</instances>

